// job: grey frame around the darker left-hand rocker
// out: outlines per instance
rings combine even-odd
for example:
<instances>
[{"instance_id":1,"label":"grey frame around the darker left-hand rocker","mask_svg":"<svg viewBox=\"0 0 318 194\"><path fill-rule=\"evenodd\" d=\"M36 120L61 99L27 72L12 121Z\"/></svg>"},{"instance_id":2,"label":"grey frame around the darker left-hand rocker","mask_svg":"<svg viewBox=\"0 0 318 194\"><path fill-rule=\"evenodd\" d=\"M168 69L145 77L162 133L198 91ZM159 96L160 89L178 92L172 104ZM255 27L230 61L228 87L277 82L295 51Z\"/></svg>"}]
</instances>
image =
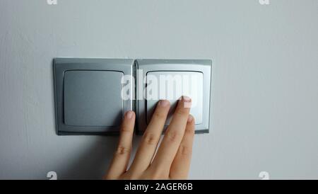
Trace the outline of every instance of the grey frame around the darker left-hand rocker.
<instances>
[{"instance_id":1,"label":"grey frame around the darker left-hand rocker","mask_svg":"<svg viewBox=\"0 0 318 194\"><path fill-rule=\"evenodd\" d=\"M134 76L134 59L56 58L53 62L57 135L118 135L119 127L65 125L64 73L72 70L114 71ZM126 111L134 108L134 89L131 89L129 95L130 98L124 101L123 116Z\"/></svg>"}]
</instances>

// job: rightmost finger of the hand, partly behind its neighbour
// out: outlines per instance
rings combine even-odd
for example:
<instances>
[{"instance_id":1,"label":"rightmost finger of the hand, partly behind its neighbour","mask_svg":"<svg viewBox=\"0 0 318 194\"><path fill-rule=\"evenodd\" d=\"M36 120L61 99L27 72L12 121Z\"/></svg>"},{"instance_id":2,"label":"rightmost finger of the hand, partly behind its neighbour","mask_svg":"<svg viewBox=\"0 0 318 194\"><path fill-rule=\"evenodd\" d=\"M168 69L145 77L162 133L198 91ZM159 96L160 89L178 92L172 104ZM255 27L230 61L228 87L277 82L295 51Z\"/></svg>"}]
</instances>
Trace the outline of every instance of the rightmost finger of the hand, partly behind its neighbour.
<instances>
[{"instance_id":1,"label":"rightmost finger of the hand, partly behind its neighbour","mask_svg":"<svg viewBox=\"0 0 318 194\"><path fill-rule=\"evenodd\" d=\"M192 157L193 139L194 118L192 115L189 115L182 142L170 168L171 179L187 179Z\"/></svg>"}]
</instances>

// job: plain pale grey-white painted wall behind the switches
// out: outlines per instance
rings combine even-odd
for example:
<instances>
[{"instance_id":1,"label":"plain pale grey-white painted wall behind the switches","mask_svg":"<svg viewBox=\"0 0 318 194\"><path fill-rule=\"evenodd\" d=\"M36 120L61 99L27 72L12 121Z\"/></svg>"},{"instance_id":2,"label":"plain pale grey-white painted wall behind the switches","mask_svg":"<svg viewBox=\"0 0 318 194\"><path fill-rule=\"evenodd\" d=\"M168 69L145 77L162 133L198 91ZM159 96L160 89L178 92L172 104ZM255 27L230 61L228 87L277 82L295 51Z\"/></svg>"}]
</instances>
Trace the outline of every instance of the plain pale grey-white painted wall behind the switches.
<instances>
[{"instance_id":1,"label":"plain pale grey-white painted wall behind the switches","mask_svg":"<svg viewBox=\"0 0 318 194\"><path fill-rule=\"evenodd\" d=\"M318 1L269 2L0 0L0 178L107 169L117 137L55 133L54 57L213 59L189 178L318 178Z\"/></svg>"}]
</instances>

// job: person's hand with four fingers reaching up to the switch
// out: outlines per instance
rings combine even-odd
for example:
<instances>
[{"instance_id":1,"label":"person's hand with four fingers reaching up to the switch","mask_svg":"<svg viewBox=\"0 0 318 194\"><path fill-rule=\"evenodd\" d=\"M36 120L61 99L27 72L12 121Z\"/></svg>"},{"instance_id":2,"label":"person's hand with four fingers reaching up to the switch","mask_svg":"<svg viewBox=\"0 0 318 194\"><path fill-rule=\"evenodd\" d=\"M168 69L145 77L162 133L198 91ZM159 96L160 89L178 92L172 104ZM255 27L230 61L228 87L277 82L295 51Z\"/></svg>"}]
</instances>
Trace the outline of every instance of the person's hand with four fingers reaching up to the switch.
<instances>
[{"instance_id":1,"label":"person's hand with four fingers reaching up to the switch","mask_svg":"<svg viewBox=\"0 0 318 194\"><path fill-rule=\"evenodd\" d=\"M155 113L143 134L134 161L128 169L136 115L127 111L120 130L119 143L105 179L187 179L192 157L194 118L189 115L191 99L183 96L163 132L169 101L159 101ZM155 152L158 147L158 152Z\"/></svg>"}]
</instances>

